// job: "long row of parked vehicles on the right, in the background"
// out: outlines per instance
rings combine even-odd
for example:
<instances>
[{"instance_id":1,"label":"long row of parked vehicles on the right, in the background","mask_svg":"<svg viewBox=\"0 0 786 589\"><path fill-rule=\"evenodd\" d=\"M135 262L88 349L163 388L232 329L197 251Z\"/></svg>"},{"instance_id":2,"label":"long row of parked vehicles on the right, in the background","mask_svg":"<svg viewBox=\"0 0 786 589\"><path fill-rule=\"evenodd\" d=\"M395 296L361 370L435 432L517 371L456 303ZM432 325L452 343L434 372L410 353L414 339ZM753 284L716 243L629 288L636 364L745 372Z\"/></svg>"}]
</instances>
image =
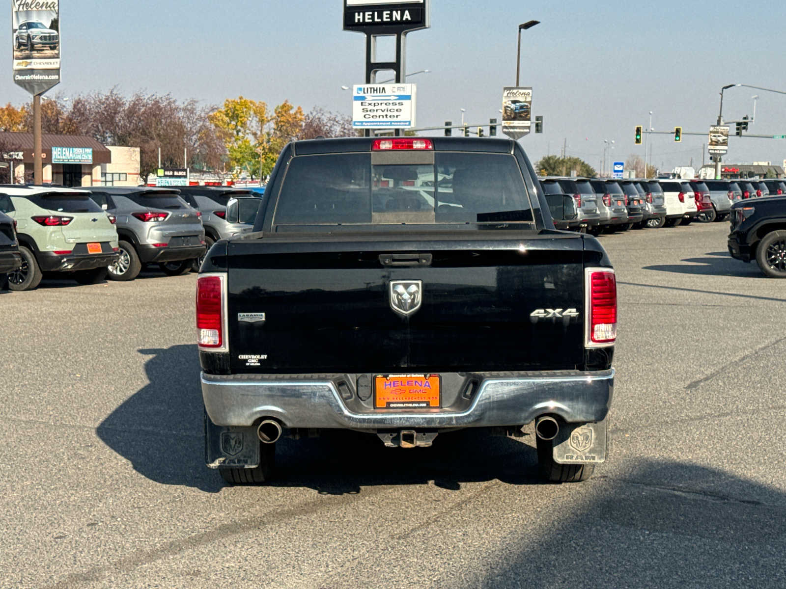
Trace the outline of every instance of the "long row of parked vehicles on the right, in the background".
<instances>
[{"instance_id":1,"label":"long row of parked vehicles on the right, in the background","mask_svg":"<svg viewBox=\"0 0 786 589\"><path fill-rule=\"evenodd\" d=\"M558 229L599 235L625 231L710 223L729 218L737 200L786 193L781 180L682 180L657 178L541 177L546 195L567 194L575 199L577 215L560 221Z\"/></svg>"}]
</instances>

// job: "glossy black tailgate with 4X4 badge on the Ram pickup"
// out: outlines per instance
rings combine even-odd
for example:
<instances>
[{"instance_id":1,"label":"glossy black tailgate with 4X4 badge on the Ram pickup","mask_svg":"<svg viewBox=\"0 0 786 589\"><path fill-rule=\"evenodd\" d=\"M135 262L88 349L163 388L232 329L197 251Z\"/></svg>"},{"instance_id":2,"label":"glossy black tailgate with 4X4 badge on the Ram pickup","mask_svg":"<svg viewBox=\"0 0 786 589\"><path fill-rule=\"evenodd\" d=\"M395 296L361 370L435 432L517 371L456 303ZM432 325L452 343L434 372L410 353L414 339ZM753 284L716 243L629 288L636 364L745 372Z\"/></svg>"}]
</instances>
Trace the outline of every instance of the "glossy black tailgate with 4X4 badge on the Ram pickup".
<instances>
[{"instance_id":1,"label":"glossy black tailgate with 4X4 badge on the Ram pickup","mask_svg":"<svg viewBox=\"0 0 786 589\"><path fill-rule=\"evenodd\" d=\"M461 240L432 232L410 243L384 235L266 237L234 240L227 254L233 373L582 364L580 236ZM406 316L391 305L396 280L421 281L421 304Z\"/></svg>"}]
</instances>

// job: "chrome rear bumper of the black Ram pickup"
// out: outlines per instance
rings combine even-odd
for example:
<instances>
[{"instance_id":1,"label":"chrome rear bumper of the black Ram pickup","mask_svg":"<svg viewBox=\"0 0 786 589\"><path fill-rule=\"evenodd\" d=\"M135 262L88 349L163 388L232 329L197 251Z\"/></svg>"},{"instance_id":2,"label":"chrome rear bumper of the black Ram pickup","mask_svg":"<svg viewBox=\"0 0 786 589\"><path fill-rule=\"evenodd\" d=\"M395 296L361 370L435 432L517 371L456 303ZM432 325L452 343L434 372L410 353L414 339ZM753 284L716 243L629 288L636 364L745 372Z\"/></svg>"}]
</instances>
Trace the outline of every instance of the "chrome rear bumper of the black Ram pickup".
<instances>
[{"instance_id":1,"label":"chrome rear bumper of the black Ram pickup","mask_svg":"<svg viewBox=\"0 0 786 589\"><path fill-rule=\"evenodd\" d=\"M351 412L329 375L206 375L202 397L217 426L251 426L262 417L289 428L378 430L516 426L543 414L567 423L598 422L612 404L614 369L520 372L483 379L465 411Z\"/></svg>"}]
</instances>

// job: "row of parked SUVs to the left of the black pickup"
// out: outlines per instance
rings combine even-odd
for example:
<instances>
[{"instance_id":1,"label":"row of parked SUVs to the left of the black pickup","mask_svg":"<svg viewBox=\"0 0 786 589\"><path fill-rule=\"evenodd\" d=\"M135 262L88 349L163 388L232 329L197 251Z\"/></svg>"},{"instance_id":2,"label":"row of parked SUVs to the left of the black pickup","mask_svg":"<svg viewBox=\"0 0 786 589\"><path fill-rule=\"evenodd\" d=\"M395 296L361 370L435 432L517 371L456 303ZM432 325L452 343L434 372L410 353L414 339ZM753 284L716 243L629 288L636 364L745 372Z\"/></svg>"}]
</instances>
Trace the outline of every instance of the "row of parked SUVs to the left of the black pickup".
<instances>
[{"instance_id":1,"label":"row of parked SUVs to the left of the black pickup","mask_svg":"<svg viewBox=\"0 0 786 589\"><path fill-rule=\"evenodd\" d=\"M0 287L29 291L45 272L93 284L134 280L152 265L170 276L196 271L216 240L250 230L241 221L260 197L206 186L0 186Z\"/></svg>"}]
</instances>

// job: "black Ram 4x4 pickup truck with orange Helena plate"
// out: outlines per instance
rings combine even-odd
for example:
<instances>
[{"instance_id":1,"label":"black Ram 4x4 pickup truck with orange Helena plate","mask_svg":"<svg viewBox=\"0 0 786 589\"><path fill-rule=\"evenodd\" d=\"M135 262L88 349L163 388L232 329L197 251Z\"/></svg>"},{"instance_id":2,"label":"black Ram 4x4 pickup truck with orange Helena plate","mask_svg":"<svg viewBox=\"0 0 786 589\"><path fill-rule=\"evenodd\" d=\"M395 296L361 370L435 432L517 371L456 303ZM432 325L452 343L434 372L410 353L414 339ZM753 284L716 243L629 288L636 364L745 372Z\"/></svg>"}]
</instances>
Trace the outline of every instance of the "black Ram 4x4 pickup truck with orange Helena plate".
<instances>
[{"instance_id":1,"label":"black Ram 4x4 pickup truck with orange Helena plate","mask_svg":"<svg viewBox=\"0 0 786 589\"><path fill-rule=\"evenodd\" d=\"M604 462L615 273L593 236L554 229L573 199L547 199L520 145L297 141L266 196L197 279L206 458L226 481L266 481L282 434L331 429L414 448L534 422L549 480Z\"/></svg>"}]
</instances>

